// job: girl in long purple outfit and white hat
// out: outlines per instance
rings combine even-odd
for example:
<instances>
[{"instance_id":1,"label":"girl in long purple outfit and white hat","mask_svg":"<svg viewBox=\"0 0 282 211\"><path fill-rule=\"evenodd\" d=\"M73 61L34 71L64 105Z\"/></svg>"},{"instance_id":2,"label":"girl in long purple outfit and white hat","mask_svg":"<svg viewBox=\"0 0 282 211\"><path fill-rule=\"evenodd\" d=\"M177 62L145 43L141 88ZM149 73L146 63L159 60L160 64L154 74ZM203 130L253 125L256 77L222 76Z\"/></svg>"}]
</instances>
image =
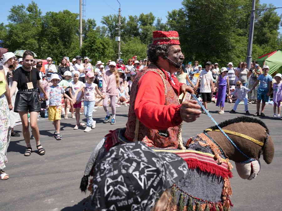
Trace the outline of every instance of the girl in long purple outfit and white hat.
<instances>
[{"instance_id":1,"label":"girl in long purple outfit and white hat","mask_svg":"<svg viewBox=\"0 0 282 211\"><path fill-rule=\"evenodd\" d=\"M216 106L220 106L220 110L218 111L219 114L224 114L224 102L225 102L225 97L226 97L226 88L228 90L228 95L230 95L227 72L228 72L227 68L222 67L220 71L220 76L217 77L216 87L218 88L218 91L217 91L218 94L217 94Z\"/></svg>"}]
</instances>

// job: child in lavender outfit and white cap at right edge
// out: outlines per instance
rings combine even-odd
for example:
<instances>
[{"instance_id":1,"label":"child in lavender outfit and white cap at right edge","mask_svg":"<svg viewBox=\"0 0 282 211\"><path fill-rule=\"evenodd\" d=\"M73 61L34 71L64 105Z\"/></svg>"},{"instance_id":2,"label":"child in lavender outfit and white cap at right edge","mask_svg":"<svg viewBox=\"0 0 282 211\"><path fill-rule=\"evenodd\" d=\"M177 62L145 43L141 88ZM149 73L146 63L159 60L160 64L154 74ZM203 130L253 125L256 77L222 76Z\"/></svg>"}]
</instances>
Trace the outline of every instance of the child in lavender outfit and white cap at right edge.
<instances>
[{"instance_id":1,"label":"child in lavender outfit and white cap at right edge","mask_svg":"<svg viewBox=\"0 0 282 211\"><path fill-rule=\"evenodd\" d=\"M282 75L281 73L277 73L274 76L276 83L273 84L273 90L269 93L271 95L273 93L273 118L281 119L280 116L280 103L282 100ZM277 107L277 116L276 116L276 107Z\"/></svg>"}]
</instances>

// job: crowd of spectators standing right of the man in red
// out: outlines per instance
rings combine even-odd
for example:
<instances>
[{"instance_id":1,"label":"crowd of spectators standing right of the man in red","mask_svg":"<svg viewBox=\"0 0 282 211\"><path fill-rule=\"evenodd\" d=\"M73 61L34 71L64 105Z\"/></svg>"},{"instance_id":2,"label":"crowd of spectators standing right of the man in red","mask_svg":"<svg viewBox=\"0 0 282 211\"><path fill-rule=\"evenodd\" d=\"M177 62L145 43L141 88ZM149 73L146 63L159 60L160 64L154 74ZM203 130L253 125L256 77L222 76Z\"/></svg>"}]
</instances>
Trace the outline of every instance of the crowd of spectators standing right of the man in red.
<instances>
[{"instance_id":1,"label":"crowd of spectators standing right of the man in red","mask_svg":"<svg viewBox=\"0 0 282 211\"><path fill-rule=\"evenodd\" d=\"M273 96L273 118L281 119L282 75L277 73L272 78L268 71L269 66L265 65L261 68L256 61L251 63L249 70L246 62L239 62L236 68L232 62L229 62L227 67L219 69L218 63L212 64L210 61L206 62L205 69L202 70L199 62L195 61L193 66L191 62L182 66L176 77L181 83L187 83L198 91L198 96L200 94L206 110L208 109L207 102L214 101L216 106L220 107L218 113L224 114L225 102L235 102L230 113L236 113L237 106L244 101L246 115L250 115L248 104L253 103L257 105L257 111L253 116L264 117L266 102L269 101L270 96ZM195 74L198 77L195 77ZM206 113L204 110L202 112Z\"/></svg>"}]
</instances>

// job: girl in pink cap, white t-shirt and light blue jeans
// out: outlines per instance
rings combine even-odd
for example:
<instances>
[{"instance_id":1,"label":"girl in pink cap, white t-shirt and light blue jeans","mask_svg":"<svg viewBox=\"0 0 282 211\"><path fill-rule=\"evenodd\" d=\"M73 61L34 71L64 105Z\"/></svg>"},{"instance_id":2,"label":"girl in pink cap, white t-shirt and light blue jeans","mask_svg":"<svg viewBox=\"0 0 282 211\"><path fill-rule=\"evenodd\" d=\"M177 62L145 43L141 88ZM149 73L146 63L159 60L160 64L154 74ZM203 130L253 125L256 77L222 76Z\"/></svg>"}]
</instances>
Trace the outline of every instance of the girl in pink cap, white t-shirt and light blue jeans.
<instances>
[{"instance_id":1,"label":"girl in pink cap, white t-shirt and light blue jeans","mask_svg":"<svg viewBox=\"0 0 282 211\"><path fill-rule=\"evenodd\" d=\"M88 71L86 73L86 83L83 84L79 89L76 90L74 96L74 103L76 102L76 98L78 93L84 89L84 115L87 119L87 125L84 132L89 132L94 129L96 126L96 121L92 119L92 113L95 106L95 90L101 96L102 99L105 98L104 95L99 91L97 84L93 83L94 81L94 73Z\"/></svg>"}]
</instances>

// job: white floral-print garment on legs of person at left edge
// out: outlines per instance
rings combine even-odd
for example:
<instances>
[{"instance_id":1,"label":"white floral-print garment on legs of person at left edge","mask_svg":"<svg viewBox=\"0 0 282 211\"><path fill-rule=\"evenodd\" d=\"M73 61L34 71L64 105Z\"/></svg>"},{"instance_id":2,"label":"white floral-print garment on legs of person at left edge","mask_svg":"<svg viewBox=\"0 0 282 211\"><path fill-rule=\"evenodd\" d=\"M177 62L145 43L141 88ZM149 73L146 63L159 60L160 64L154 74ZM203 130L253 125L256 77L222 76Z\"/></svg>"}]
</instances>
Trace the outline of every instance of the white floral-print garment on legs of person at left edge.
<instances>
[{"instance_id":1,"label":"white floral-print garment on legs of person at left edge","mask_svg":"<svg viewBox=\"0 0 282 211\"><path fill-rule=\"evenodd\" d=\"M8 162L7 149L11 138L10 110L5 95L0 96L0 169Z\"/></svg>"}]
</instances>

